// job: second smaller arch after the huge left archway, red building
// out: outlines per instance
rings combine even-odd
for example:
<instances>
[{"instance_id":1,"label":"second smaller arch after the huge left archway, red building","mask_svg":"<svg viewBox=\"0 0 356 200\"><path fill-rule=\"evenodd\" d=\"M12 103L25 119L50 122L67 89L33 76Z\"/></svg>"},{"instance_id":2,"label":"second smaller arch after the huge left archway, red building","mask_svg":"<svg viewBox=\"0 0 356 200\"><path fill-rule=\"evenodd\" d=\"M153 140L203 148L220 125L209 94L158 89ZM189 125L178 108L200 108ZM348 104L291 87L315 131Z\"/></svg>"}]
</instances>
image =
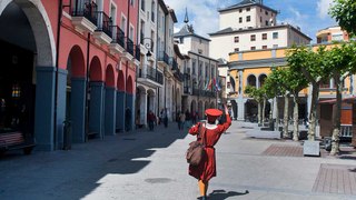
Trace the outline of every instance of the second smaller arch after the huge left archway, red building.
<instances>
[{"instance_id":1,"label":"second smaller arch after the huge left archway, red building","mask_svg":"<svg viewBox=\"0 0 356 200\"><path fill-rule=\"evenodd\" d=\"M98 57L93 57L89 68L89 124L88 136L93 138L103 137L103 76ZM89 138L90 138L89 137Z\"/></svg>"}]
</instances>

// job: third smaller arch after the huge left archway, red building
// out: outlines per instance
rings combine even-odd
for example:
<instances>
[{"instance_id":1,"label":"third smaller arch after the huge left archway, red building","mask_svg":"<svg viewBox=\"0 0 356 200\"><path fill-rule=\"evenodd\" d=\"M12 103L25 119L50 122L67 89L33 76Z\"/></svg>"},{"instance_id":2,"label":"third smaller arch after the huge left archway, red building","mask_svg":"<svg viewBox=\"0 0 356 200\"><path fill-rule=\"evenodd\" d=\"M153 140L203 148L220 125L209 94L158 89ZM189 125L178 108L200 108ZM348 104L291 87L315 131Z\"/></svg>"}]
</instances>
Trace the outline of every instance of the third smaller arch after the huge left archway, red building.
<instances>
[{"instance_id":1,"label":"third smaller arch after the huge left archway, red building","mask_svg":"<svg viewBox=\"0 0 356 200\"><path fill-rule=\"evenodd\" d=\"M116 83L115 71L111 64L107 67L105 79L105 134L113 136L116 123Z\"/></svg>"}]
</instances>

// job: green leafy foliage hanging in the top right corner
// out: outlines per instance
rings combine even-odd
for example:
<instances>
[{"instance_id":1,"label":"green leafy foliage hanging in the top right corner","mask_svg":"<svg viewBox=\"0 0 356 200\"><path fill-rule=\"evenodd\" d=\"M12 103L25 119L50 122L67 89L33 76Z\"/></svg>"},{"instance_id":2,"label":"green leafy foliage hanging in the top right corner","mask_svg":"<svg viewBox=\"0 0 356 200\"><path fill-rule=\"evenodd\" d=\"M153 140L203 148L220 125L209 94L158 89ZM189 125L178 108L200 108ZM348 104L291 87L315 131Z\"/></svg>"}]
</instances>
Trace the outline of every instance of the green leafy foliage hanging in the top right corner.
<instances>
[{"instance_id":1,"label":"green leafy foliage hanging in the top right corner","mask_svg":"<svg viewBox=\"0 0 356 200\"><path fill-rule=\"evenodd\" d=\"M334 0L334 6L329 14L336 19L343 30L350 36L356 34L356 1L355 0Z\"/></svg>"}]
</instances>

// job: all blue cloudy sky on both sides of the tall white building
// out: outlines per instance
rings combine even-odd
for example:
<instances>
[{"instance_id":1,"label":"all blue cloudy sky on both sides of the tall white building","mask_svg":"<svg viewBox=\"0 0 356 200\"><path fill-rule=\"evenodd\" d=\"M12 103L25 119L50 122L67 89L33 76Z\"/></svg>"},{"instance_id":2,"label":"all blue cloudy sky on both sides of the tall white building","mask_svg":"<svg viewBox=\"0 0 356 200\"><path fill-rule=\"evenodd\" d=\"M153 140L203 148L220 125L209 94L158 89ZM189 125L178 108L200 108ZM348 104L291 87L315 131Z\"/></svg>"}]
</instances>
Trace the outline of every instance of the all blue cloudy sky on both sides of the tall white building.
<instances>
[{"instance_id":1,"label":"all blue cloudy sky on both sides of the tall white building","mask_svg":"<svg viewBox=\"0 0 356 200\"><path fill-rule=\"evenodd\" d=\"M176 31L182 27L185 9L188 9L190 23L198 34L208 37L207 33L218 31L219 8L225 8L241 0L165 0L166 4L175 9L178 23ZM287 22L300 27L301 31L316 40L316 32L320 29L337 24L327 11L333 0L264 0L264 4L280 11L277 23Z\"/></svg>"}]
</instances>

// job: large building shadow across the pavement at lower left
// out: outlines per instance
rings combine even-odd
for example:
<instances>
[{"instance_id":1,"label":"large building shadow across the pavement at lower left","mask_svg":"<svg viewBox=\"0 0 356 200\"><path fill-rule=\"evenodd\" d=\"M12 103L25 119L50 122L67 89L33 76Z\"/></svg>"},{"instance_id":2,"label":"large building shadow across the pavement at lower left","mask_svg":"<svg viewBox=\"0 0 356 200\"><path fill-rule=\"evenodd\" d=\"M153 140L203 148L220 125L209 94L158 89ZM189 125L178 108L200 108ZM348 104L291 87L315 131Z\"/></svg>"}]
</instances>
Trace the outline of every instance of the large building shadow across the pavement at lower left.
<instances>
[{"instance_id":1,"label":"large building shadow across the pavement at lower left","mask_svg":"<svg viewBox=\"0 0 356 200\"><path fill-rule=\"evenodd\" d=\"M179 131L177 123L169 123L168 128L155 127L155 131L138 130L72 144L69 151L34 150L31 156L6 152L0 159L0 174L7 179L0 181L1 199L85 198L108 174L139 172L151 162L149 157L157 149L168 148L187 132L188 129Z\"/></svg>"}]
</instances>

